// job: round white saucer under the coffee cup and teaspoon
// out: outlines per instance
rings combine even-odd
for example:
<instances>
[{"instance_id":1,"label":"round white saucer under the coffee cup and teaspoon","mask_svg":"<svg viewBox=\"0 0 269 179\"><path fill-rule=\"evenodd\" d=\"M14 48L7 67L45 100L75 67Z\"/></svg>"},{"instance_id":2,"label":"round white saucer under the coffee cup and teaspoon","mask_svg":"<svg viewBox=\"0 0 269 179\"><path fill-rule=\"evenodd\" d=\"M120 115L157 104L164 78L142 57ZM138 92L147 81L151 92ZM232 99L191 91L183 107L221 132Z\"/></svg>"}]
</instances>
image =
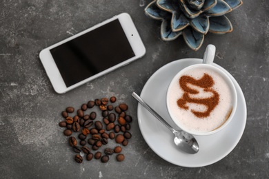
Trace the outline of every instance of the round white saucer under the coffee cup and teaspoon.
<instances>
[{"instance_id":1,"label":"round white saucer under the coffee cup and teaspoon","mask_svg":"<svg viewBox=\"0 0 269 179\"><path fill-rule=\"evenodd\" d=\"M168 85L179 70L201 62L201 59L181 59L164 65L155 74L152 74L140 94L141 98L175 129L179 128L172 122L166 109L166 91ZM223 69L217 64L213 65ZM226 72L226 70L224 71ZM226 73L228 74L228 72ZM197 154L186 154L177 149L173 142L171 131L143 108L142 105L138 105L137 116L141 134L146 140L146 143L148 143L150 148L158 156L181 167L203 167L221 160L235 148L246 126L246 101L235 78L230 74L228 76L232 78L237 89L237 111L230 124L217 134L195 136L200 147Z\"/></svg>"}]
</instances>

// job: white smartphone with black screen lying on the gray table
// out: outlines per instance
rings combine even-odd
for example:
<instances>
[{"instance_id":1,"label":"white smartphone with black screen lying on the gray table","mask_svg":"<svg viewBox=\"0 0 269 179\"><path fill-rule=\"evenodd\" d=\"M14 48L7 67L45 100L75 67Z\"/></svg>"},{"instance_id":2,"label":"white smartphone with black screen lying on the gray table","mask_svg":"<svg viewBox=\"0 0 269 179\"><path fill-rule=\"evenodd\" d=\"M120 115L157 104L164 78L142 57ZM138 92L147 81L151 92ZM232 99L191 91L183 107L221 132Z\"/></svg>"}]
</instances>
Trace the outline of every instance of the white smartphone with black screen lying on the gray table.
<instances>
[{"instance_id":1,"label":"white smartphone with black screen lying on the gray table","mask_svg":"<svg viewBox=\"0 0 269 179\"><path fill-rule=\"evenodd\" d=\"M54 90L63 94L145 53L130 15L122 13L51 45L39 58Z\"/></svg>"}]
</instances>

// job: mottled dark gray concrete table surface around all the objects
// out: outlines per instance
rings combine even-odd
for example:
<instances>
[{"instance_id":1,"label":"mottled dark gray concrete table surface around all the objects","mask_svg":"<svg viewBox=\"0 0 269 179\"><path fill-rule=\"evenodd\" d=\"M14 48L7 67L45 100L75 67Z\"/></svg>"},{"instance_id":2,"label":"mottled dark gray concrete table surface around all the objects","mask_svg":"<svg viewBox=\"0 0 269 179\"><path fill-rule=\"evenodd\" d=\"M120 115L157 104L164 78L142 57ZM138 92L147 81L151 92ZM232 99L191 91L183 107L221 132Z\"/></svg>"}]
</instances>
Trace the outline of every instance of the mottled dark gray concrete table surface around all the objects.
<instances>
[{"instance_id":1,"label":"mottled dark gray concrete table surface around all the objects","mask_svg":"<svg viewBox=\"0 0 269 179\"><path fill-rule=\"evenodd\" d=\"M144 5L143 5L144 3ZM0 178L269 178L269 5L244 0L227 14L234 31L206 35L197 52L183 37L160 39L160 21L143 12L150 1L0 2ZM146 55L66 94L57 94L39 52L121 12L128 12L146 45ZM235 149L215 164L186 168L163 160L147 145L137 122L137 101L148 78L160 67L188 57L202 58L206 45L217 48L215 63L235 77L246 98L246 129ZM72 70L72 69L70 69ZM59 127L61 111L103 96L129 105L132 138L126 159L74 161ZM168 151L169 152L169 151Z\"/></svg>"}]
</instances>

